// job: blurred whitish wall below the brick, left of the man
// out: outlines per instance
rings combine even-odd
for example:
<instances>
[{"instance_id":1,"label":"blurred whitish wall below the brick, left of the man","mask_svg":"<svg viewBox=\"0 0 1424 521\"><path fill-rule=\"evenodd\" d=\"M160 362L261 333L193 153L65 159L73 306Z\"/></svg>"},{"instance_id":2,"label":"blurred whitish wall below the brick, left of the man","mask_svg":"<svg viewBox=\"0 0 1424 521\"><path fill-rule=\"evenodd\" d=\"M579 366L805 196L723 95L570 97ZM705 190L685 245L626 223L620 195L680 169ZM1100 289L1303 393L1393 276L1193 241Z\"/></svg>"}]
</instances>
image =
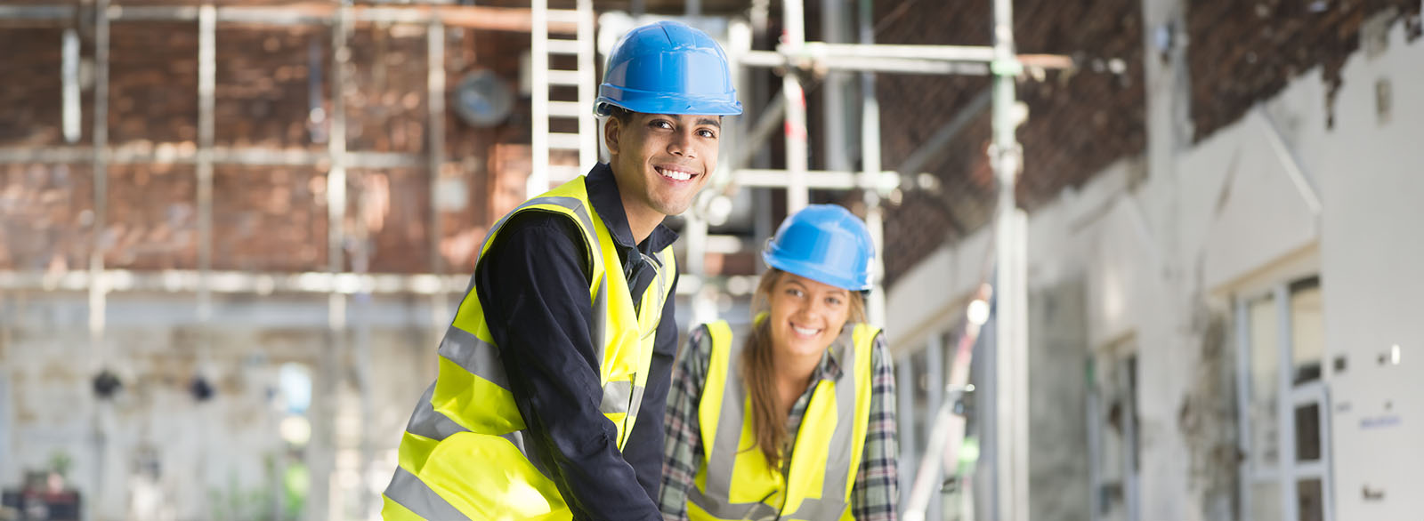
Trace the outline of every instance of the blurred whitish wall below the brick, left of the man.
<instances>
[{"instance_id":1,"label":"blurred whitish wall below the brick, left of the man","mask_svg":"<svg viewBox=\"0 0 1424 521\"><path fill-rule=\"evenodd\" d=\"M315 488L302 518L370 518L360 508L379 508L400 433L434 379L429 300L377 299L370 313L353 302L352 340L339 347L328 340L323 295L215 300L212 342L202 349L192 296L112 293L100 354L85 327L85 295L0 296L0 487L17 487L23 470L48 470L63 453L85 520L266 518L288 457L278 372L295 362L313 377L305 460ZM365 347L355 335L362 327ZM335 379L329 396L320 393L323 363ZM110 400L91 390L103 367L124 384ZM188 390L199 373L214 387L206 401ZM370 396L365 417L362 381ZM323 416L337 426L326 440L318 431ZM330 480L318 475L322 465Z\"/></svg>"}]
</instances>

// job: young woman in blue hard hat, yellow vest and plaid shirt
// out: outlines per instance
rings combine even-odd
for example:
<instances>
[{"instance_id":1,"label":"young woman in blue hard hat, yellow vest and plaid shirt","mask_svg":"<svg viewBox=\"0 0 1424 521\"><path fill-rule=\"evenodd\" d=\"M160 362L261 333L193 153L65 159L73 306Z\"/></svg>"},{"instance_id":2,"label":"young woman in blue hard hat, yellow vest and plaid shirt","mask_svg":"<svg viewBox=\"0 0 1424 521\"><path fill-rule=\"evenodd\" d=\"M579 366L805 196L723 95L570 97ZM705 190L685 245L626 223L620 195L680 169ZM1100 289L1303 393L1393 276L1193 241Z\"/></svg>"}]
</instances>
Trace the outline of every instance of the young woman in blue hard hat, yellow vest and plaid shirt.
<instances>
[{"instance_id":1,"label":"young woman in blue hard hat, yellow vest and plaid shirt","mask_svg":"<svg viewBox=\"0 0 1424 521\"><path fill-rule=\"evenodd\" d=\"M864 323L874 246L834 205L789 216L749 332L692 330L668 393L665 520L896 518L894 370Z\"/></svg>"}]
</instances>

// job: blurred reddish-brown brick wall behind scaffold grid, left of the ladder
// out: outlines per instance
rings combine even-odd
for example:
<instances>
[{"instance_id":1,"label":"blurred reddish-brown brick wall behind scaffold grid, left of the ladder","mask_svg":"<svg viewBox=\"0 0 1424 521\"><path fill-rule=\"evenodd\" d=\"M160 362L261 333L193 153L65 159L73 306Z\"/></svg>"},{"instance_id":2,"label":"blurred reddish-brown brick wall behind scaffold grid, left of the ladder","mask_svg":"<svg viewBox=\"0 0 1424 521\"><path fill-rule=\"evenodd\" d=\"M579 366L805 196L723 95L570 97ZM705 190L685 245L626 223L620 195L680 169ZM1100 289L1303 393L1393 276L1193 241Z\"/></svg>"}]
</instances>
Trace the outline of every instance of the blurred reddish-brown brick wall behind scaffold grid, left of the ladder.
<instances>
[{"instance_id":1,"label":"blurred reddish-brown brick wall behind scaffold grid, left of the ladder","mask_svg":"<svg viewBox=\"0 0 1424 521\"><path fill-rule=\"evenodd\" d=\"M121 4L198 4L197 0L125 0ZM218 1L219 4L252 4ZM292 1L263 0L262 4ZM77 27L81 58L93 63L93 28L77 21L0 23L0 148L63 147L60 41ZM447 91L464 73L490 68L517 88L518 57L528 34L446 30ZM427 36L420 26L357 24L352 30L345 88L347 149L423 155L429 151ZM112 147L197 147L198 30L195 23L117 21L111 27L108 138ZM216 31L215 144L325 151L330 131L332 34L325 26L219 24ZM312 81L312 77L316 81ZM414 273L434 266L468 272L493 218L513 208L486 201L491 175L518 185L527 175L528 102L493 128L473 128L447 94L441 189L464 191L439 211L431 236L431 172L424 165L347 171L343 228L366 229L372 272ZM319 108L319 111L313 111ZM93 138L93 84L84 84L83 140ZM503 147L503 148L501 148ZM523 161L494 159L521 152ZM0 269L83 269L93 248L90 162L0 165ZM521 172L496 172L523 168ZM326 165L218 165L214 178L214 268L325 270L328 266ZM523 195L523 192L520 194ZM453 202L450 202L453 201ZM517 204L518 201L514 201ZM111 164L105 265L127 269L197 268L197 181L192 165ZM493 216L491 216L493 215ZM357 226L360 225L360 226ZM360 252L345 245L352 269Z\"/></svg>"}]
</instances>

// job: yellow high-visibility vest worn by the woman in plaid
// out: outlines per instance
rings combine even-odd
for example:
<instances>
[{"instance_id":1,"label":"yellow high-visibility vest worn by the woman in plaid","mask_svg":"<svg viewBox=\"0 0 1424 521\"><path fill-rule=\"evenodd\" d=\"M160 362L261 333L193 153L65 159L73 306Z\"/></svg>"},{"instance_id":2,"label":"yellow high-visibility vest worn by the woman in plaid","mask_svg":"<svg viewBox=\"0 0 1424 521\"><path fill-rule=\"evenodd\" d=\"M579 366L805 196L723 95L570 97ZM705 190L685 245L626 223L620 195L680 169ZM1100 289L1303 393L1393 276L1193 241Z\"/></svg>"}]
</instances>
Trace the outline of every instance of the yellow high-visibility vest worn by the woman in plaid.
<instances>
[{"instance_id":1,"label":"yellow high-visibility vest worn by the woman in plaid","mask_svg":"<svg viewBox=\"0 0 1424 521\"><path fill-rule=\"evenodd\" d=\"M756 447L742 381L742 343L732 342L726 322L706 329L712 357L698 403L702 467L688 490L688 518L853 520L850 488L870 426L870 352L880 329L844 327L830 346L840 377L816 383L786 475Z\"/></svg>"}]
</instances>

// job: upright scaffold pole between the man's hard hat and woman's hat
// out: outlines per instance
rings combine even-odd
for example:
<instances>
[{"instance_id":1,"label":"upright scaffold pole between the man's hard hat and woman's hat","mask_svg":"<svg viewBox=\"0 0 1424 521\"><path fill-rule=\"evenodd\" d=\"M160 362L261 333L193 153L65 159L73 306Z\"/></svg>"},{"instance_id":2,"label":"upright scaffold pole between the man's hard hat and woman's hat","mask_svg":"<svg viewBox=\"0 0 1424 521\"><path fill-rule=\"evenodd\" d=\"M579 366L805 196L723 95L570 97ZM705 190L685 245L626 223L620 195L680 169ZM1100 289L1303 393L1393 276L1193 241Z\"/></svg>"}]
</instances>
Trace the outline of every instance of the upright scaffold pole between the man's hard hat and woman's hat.
<instances>
[{"instance_id":1,"label":"upright scaffold pole between the man's hard hat and woman's hat","mask_svg":"<svg viewBox=\"0 0 1424 521\"><path fill-rule=\"evenodd\" d=\"M802 0L782 0L782 48L785 53L799 53L806 40ZM806 206L810 195L806 192L806 93L795 70L782 75L782 97L786 100L786 214L795 214Z\"/></svg>"}]
</instances>

